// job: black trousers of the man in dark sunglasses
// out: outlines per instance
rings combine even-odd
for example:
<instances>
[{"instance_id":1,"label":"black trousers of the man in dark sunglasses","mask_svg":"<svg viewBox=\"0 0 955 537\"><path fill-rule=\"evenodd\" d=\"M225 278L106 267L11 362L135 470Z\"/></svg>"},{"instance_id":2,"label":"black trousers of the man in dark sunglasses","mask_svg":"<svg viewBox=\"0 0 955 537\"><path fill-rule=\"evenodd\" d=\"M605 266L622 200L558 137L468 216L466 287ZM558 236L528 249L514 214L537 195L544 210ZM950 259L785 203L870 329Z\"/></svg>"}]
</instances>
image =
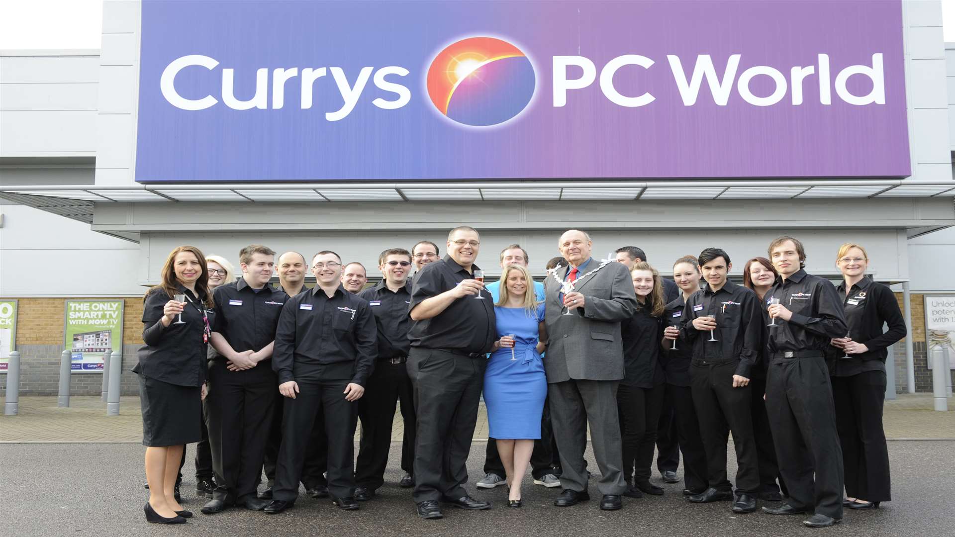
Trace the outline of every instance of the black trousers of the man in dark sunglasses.
<instances>
[{"instance_id":1,"label":"black trousers of the man in dark sunglasses","mask_svg":"<svg viewBox=\"0 0 955 537\"><path fill-rule=\"evenodd\" d=\"M404 420L401 469L414 474L414 390L405 363L378 360L368 379L365 396L358 399L361 440L355 462L355 484L374 490L385 483L388 452L392 448L394 405L400 401Z\"/></svg>"}]
</instances>

